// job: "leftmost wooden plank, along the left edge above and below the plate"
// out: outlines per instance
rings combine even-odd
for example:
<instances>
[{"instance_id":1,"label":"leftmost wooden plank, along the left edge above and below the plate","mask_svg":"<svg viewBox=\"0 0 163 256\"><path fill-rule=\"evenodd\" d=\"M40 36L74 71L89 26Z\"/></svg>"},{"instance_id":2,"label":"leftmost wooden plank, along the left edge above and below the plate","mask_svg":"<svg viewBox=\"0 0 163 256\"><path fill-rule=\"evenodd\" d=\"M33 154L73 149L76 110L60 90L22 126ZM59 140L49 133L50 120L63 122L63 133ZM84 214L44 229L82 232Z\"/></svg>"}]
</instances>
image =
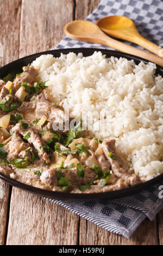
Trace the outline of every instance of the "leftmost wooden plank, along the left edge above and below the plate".
<instances>
[{"instance_id":1,"label":"leftmost wooden plank, along the left edge above and below the plate","mask_svg":"<svg viewBox=\"0 0 163 256\"><path fill-rule=\"evenodd\" d=\"M21 0L0 0L0 66L18 58ZM14 21L14 22L11 22ZM0 245L4 245L9 185L0 180Z\"/></svg>"}]
</instances>

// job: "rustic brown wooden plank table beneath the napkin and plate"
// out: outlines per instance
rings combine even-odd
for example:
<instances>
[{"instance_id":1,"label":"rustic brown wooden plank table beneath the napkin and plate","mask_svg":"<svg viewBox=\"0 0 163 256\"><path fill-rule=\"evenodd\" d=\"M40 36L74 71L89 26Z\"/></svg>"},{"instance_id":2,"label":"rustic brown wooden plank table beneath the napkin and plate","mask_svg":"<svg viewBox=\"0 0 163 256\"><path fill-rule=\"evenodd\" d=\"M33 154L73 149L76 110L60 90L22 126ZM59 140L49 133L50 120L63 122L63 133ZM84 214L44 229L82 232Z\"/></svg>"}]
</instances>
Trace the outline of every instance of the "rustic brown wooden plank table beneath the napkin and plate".
<instances>
[{"instance_id":1,"label":"rustic brown wooden plank table beneath the napkin and plate","mask_svg":"<svg viewBox=\"0 0 163 256\"><path fill-rule=\"evenodd\" d=\"M46 51L64 38L64 25L85 19L99 0L0 0L3 66ZM163 245L163 211L128 240L0 180L0 245Z\"/></svg>"}]
</instances>

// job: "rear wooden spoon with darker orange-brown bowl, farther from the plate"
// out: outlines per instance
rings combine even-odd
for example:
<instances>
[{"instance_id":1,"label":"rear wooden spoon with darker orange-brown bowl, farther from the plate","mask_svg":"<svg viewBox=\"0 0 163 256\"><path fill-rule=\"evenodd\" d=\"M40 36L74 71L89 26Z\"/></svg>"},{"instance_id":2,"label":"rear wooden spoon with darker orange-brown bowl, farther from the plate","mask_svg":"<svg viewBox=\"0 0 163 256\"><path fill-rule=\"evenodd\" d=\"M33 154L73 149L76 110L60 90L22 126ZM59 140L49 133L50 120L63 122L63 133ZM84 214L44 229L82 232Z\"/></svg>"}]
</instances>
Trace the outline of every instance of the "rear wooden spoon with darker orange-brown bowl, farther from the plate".
<instances>
[{"instance_id":1,"label":"rear wooden spoon with darker orange-brown bowl, farther from the plate","mask_svg":"<svg viewBox=\"0 0 163 256\"><path fill-rule=\"evenodd\" d=\"M155 53L161 57L161 48L153 42L143 38L136 29L136 26L132 20L125 16L109 16L99 19L97 25L106 34L115 38L134 42L137 45L141 45L147 50Z\"/></svg>"}]
</instances>

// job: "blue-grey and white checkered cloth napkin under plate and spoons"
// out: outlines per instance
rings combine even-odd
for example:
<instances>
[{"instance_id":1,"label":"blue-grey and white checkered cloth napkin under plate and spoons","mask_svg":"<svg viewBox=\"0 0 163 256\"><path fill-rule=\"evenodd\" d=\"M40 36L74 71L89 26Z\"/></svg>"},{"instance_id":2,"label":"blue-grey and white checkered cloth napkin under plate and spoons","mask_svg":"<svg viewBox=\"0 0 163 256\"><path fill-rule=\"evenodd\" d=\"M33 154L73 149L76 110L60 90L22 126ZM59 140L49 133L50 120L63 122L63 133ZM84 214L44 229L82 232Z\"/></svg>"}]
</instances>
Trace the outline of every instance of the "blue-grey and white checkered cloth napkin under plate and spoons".
<instances>
[{"instance_id":1,"label":"blue-grey and white checkered cloth napkin under plate and spoons","mask_svg":"<svg viewBox=\"0 0 163 256\"><path fill-rule=\"evenodd\" d=\"M163 44L162 0L102 0L98 8L86 20L96 23L98 19L111 15L129 17L134 20L142 36L155 42L155 44ZM126 43L133 45L130 42ZM104 45L77 41L68 37L64 38L56 48L73 47L110 49ZM156 214L163 208L161 189L163 190L163 181L135 196L122 199L78 203L60 200L51 201L64 206L108 231L130 238L146 217L151 221L154 220Z\"/></svg>"}]
</instances>

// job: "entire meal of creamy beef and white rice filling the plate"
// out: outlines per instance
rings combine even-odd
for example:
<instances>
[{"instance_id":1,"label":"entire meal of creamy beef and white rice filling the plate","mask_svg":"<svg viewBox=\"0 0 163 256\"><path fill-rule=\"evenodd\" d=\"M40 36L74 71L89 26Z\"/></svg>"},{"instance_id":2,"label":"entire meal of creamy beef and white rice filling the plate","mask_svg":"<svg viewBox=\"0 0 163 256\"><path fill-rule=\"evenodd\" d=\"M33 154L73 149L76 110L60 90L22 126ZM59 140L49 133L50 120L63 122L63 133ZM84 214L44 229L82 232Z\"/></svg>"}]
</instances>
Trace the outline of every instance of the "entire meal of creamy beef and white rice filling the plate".
<instances>
[{"instance_id":1,"label":"entire meal of creamy beef and white rice filling the plate","mask_svg":"<svg viewBox=\"0 0 163 256\"><path fill-rule=\"evenodd\" d=\"M72 193L121 190L161 174L163 78L155 69L153 63L136 65L101 52L71 52L42 55L13 80L5 76L0 172ZM83 129L86 114L91 131Z\"/></svg>"}]
</instances>

